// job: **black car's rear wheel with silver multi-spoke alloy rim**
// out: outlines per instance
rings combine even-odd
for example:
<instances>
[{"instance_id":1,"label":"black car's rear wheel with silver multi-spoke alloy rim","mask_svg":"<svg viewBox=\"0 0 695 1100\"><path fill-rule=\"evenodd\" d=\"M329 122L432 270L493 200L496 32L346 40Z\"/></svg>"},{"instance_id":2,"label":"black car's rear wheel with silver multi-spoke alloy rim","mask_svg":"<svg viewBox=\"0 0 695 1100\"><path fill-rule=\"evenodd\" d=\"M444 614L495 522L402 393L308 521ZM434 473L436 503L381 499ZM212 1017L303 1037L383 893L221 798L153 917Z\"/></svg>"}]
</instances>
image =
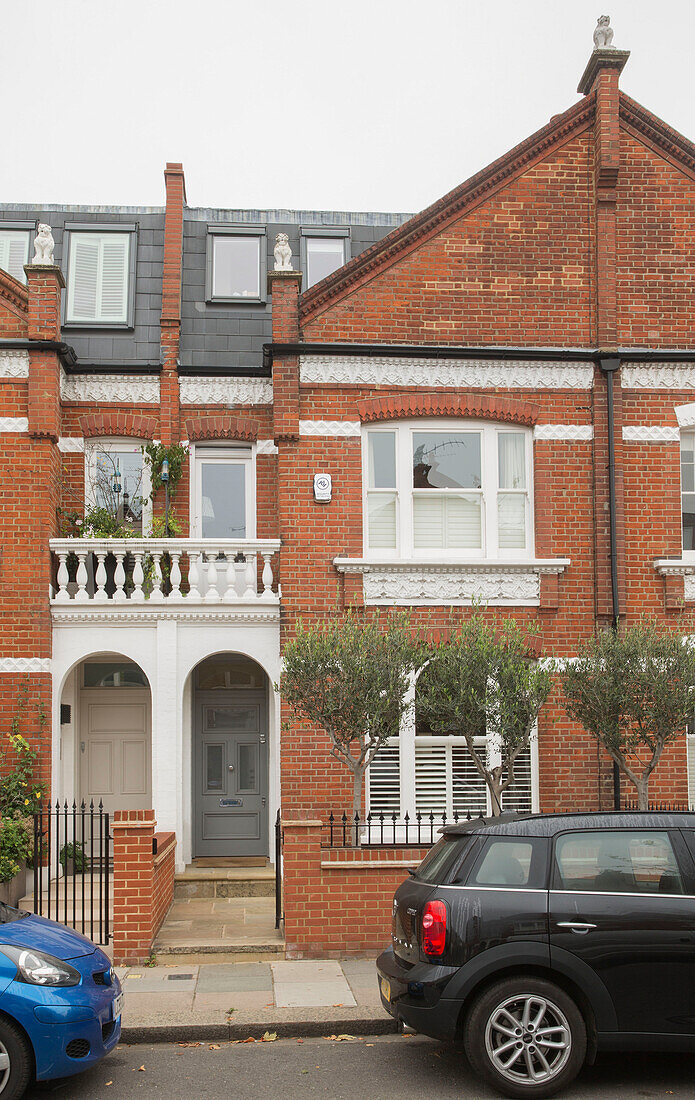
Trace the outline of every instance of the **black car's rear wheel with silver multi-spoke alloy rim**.
<instances>
[{"instance_id":1,"label":"black car's rear wheel with silver multi-spoke alloy rim","mask_svg":"<svg viewBox=\"0 0 695 1100\"><path fill-rule=\"evenodd\" d=\"M464 1044L473 1069L505 1096L551 1097L584 1065L586 1025L558 986L510 978L476 999Z\"/></svg>"}]
</instances>

